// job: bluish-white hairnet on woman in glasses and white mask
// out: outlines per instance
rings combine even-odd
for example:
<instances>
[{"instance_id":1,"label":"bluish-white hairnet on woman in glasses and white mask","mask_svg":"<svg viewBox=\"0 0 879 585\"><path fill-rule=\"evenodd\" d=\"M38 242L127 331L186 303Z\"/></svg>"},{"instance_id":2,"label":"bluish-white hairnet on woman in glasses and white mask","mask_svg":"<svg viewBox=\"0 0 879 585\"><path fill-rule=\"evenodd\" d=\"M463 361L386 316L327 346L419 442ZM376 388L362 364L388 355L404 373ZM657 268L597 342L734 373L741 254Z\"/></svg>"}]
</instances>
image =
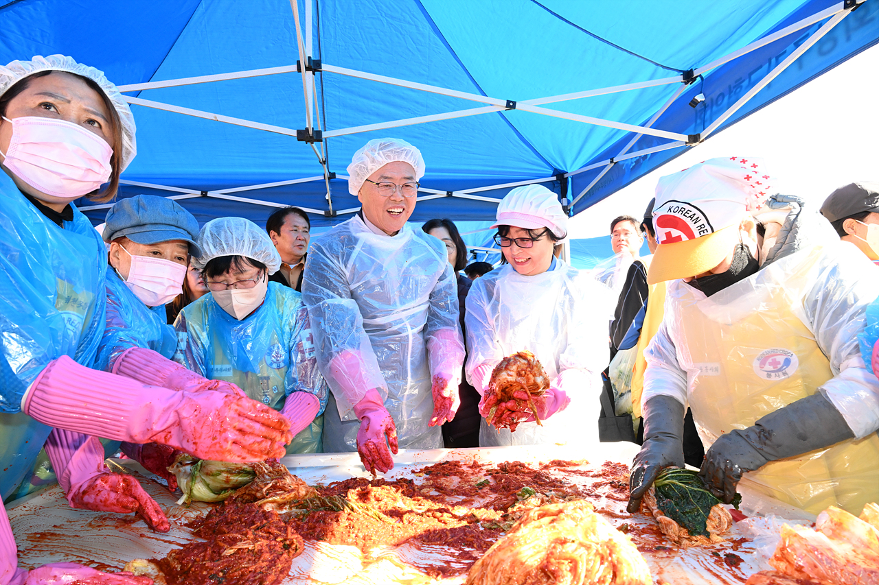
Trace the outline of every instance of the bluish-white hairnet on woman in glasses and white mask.
<instances>
[{"instance_id":1,"label":"bluish-white hairnet on woman in glasses and white mask","mask_svg":"<svg viewBox=\"0 0 879 585\"><path fill-rule=\"evenodd\" d=\"M218 217L208 221L199 233L201 257L193 257L199 270L220 256L247 256L268 267L269 274L280 268L280 254L272 238L251 220L243 217Z\"/></svg>"}]
</instances>

